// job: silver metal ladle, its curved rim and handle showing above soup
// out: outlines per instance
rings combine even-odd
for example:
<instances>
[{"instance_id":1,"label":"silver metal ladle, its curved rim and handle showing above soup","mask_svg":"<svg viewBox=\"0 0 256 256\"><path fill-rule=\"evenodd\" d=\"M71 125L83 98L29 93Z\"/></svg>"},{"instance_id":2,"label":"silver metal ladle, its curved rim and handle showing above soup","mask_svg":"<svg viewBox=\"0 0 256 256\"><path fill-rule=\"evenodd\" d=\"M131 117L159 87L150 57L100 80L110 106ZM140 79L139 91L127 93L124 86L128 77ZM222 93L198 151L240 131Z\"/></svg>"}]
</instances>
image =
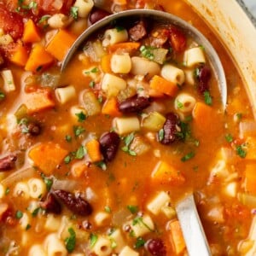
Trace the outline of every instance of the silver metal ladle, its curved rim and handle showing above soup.
<instances>
[{"instance_id":1,"label":"silver metal ladle, its curved rim and handle showing above soup","mask_svg":"<svg viewBox=\"0 0 256 256\"><path fill-rule=\"evenodd\" d=\"M96 1L96 3L101 3L102 0ZM97 4L99 5L99 4ZM178 18L175 15L171 15L162 11L149 10L149 9L132 9L123 12L116 13L114 15L109 15L108 17L97 21L94 25L86 29L79 38L75 41L71 49L69 49L66 57L64 58L61 65L61 72L67 67L68 62L73 58L73 55L79 49L80 46L84 45L87 39L91 35L99 32L104 26L108 26L113 20L119 20L119 24L122 24L122 20L132 20L137 18L137 20L143 18L148 19L150 22L154 20L162 24L173 24L178 26L193 38L197 44L203 45L207 60L212 66L216 79L218 79L218 88L220 90L221 102L225 108L227 102L227 84L224 75L224 68L218 55L213 49L212 44L209 43L207 38L205 38L201 32L191 26L188 22ZM208 256L211 255L208 242L201 225L201 220L198 216L198 212L195 207L194 196L186 196L182 201L177 203L176 206L177 217L180 221L184 240L189 252L189 256Z\"/></svg>"}]
</instances>

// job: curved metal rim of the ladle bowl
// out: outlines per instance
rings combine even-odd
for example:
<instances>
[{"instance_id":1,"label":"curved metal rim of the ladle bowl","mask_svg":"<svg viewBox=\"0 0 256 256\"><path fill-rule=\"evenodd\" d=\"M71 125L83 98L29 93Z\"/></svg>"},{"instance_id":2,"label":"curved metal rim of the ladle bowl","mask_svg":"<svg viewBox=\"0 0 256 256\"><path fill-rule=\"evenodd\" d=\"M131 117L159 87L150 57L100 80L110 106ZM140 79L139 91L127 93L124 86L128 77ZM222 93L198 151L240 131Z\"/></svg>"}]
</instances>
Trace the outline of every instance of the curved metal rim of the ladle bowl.
<instances>
[{"instance_id":1,"label":"curved metal rim of the ladle bowl","mask_svg":"<svg viewBox=\"0 0 256 256\"><path fill-rule=\"evenodd\" d=\"M67 64L73 58L73 55L76 51L85 44L86 40L88 40L93 34L99 32L104 26L108 26L113 21L117 21L119 24L122 22L127 22L129 19L146 19L151 22L157 21L162 24L171 24L174 26L178 26L183 30L189 37L193 38L195 42L199 45L202 45L206 51L207 60L212 66L212 70L215 74L216 79L218 80L218 88L220 91L221 102L225 108L227 102L227 84L224 74L224 68L219 60L218 54L215 49L212 47L212 44L205 38L201 32L199 32L194 26L182 20L181 18L171 15L169 13L151 10L151 9L131 9L125 10L113 15L109 15L102 20L97 21L92 26L89 26L77 40L74 42L73 46L68 50L67 55L61 63L61 72L67 67Z\"/></svg>"}]
</instances>

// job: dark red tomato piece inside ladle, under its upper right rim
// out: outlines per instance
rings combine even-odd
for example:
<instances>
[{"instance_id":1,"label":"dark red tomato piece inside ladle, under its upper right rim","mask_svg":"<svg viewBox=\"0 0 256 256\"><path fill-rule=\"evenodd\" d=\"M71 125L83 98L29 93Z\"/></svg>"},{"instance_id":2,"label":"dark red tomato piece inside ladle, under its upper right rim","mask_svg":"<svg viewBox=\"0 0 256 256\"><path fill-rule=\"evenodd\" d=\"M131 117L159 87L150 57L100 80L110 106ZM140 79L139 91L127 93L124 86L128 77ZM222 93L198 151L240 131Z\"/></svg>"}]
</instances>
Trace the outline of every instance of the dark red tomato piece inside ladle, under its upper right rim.
<instances>
[{"instance_id":1,"label":"dark red tomato piece inside ladle, under its upper right rim","mask_svg":"<svg viewBox=\"0 0 256 256\"><path fill-rule=\"evenodd\" d=\"M187 38L176 26L170 27L170 43L174 51L183 52L186 49Z\"/></svg>"}]
</instances>

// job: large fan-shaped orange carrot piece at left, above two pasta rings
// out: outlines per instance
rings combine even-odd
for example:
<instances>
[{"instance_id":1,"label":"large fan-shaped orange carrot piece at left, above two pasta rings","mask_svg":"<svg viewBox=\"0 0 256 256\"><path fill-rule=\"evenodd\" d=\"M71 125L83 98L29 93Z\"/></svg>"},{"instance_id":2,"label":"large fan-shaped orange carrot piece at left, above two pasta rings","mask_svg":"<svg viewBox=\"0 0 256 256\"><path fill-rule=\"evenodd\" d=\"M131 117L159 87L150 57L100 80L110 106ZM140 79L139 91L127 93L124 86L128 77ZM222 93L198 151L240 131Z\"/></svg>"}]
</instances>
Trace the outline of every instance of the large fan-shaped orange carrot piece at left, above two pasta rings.
<instances>
[{"instance_id":1,"label":"large fan-shaped orange carrot piece at left, above two pasta rings","mask_svg":"<svg viewBox=\"0 0 256 256\"><path fill-rule=\"evenodd\" d=\"M61 161L68 154L68 151L61 148L59 144L56 143L41 143L32 148L28 156L44 174L52 174L55 168L61 164Z\"/></svg>"}]
</instances>

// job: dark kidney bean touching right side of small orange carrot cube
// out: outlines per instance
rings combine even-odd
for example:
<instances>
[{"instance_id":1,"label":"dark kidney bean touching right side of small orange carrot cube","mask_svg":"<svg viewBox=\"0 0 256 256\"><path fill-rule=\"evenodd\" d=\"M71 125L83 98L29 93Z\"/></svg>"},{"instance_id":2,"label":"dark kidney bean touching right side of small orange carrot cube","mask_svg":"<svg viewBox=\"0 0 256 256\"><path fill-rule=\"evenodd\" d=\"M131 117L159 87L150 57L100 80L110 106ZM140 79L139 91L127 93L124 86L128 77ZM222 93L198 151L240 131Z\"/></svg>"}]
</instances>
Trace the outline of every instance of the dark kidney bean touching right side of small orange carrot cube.
<instances>
[{"instance_id":1,"label":"dark kidney bean touching right side of small orange carrot cube","mask_svg":"<svg viewBox=\"0 0 256 256\"><path fill-rule=\"evenodd\" d=\"M113 131L106 132L100 137L101 152L107 161L113 160L119 148L119 135Z\"/></svg>"}]
</instances>

